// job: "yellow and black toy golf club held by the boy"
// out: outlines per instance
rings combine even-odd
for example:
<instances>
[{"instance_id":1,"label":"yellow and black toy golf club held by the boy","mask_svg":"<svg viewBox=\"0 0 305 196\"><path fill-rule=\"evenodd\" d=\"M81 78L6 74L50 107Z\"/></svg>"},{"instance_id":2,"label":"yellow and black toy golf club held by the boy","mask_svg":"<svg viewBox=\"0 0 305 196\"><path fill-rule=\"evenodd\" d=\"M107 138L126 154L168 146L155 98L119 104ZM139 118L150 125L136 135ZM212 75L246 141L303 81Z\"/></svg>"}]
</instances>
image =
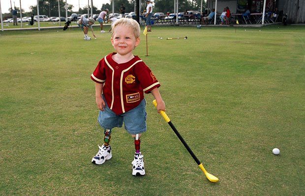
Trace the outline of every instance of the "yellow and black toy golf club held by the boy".
<instances>
[{"instance_id":1,"label":"yellow and black toy golf club held by the boy","mask_svg":"<svg viewBox=\"0 0 305 196\"><path fill-rule=\"evenodd\" d=\"M153 105L155 107L157 107L157 101L153 100L152 101ZM178 130L176 129L176 127L173 125L173 123L171 122L171 120L168 118L168 116L166 115L166 113L164 111L161 111L160 114L162 115L162 117L164 118L164 120L166 121L166 123L168 123L171 128L173 129L173 131L176 133L176 135L178 136L178 138L180 139L180 141L182 142L182 144L184 145L184 147L187 149L187 151L190 153L190 155L193 157L193 159L195 160L195 162L198 164L199 168L204 172L204 174L206 175L206 177L211 181L211 182L218 182L218 178L213 176L211 173L207 172L202 163L197 159L197 157L195 156L195 154L193 153L193 151L188 147L188 145L186 144L186 142L184 141L184 139L182 138L182 136L180 135L180 133L178 132Z\"/></svg>"}]
</instances>

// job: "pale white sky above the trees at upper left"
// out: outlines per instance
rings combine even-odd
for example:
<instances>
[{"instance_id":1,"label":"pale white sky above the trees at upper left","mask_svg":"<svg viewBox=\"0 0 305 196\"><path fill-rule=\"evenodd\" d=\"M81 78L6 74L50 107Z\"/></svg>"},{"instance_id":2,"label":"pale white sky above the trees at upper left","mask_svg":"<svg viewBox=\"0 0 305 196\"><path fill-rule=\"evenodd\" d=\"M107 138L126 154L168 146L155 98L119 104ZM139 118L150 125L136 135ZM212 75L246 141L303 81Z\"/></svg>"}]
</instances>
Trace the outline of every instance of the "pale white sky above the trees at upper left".
<instances>
[{"instance_id":1,"label":"pale white sky above the trees at upper left","mask_svg":"<svg viewBox=\"0 0 305 196\"><path fill-rule=\"evenodd\" d=\"M11 7L10 1L12 1L12 7L14 8L14 2L16 7L20 7L20 0L0 0L1 3L1 11L2 13L8 13L8 8ZM65 1L65 0L64 0ZM80 7L83 8L85 5L88 4L88 0L67 0L68 4L72 4L73 11L78 11L78 2ZM89 0L91 3L91 0ZM93 6L97 7L98 9L101 8L102 4L110 3L110 0L93 0ZM36 5L37 0L21 0L21 8L25 10L25 12L30 11L31 5Z\"/></svg>"}]
</instances>

